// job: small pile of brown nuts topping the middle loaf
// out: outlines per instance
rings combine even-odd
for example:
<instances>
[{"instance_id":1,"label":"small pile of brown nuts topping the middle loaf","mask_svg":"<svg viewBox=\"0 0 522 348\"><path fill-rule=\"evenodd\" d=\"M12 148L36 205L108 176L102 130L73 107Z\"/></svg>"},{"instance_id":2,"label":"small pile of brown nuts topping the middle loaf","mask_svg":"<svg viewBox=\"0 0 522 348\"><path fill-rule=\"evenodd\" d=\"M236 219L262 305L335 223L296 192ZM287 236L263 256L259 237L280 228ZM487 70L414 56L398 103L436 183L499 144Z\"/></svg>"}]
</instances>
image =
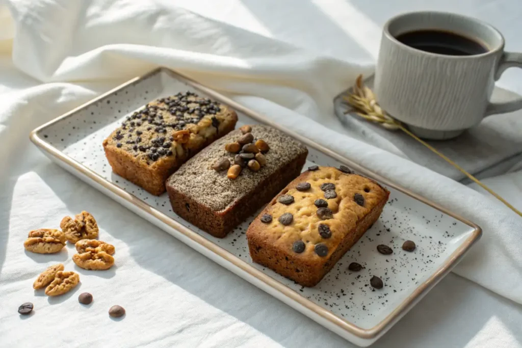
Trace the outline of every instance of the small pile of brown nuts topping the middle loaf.
<instances>
[{"instance_id":1,"label":"small pile of brown nuts topping the middle loaf","mask_svg":"<svg viewBox=\"0 0 522 348\"><path fill-rule=\"evenodd\" d=\"M265 153L270 147L263 139L254 141L251 126L242 126L239 128L243 135L236 141L225 145L225 150L235 153L234 164L230 165L227 157L220 158L212 165L212 169L217 172L226 171L229 179L235 179L239 176L244 167L248 167L253 172L257 172L266 164Z\"/></svg>"}]
</instances>

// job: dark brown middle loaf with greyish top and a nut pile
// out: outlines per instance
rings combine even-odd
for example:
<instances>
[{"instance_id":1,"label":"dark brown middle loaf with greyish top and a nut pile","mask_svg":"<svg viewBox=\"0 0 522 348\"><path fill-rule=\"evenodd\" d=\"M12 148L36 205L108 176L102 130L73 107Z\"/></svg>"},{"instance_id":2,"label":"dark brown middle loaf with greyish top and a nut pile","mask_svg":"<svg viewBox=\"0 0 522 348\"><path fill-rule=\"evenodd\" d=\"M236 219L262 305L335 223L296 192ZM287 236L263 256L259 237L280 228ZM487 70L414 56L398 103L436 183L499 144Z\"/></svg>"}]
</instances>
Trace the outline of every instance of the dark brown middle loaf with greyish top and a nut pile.
<instances>
[{"instance_id":1,"label":"dark brown middle loaf with greyish top and a nut pile","mask_svg":"<svg viewBox=\"0 0 522 348\"><path fill-rule=\"evenodd\" d=\"M243 126L169 177L172 210L222 238L298 176L307 154L302 143L279 130Z\"/></svg>"}]
</instances>

